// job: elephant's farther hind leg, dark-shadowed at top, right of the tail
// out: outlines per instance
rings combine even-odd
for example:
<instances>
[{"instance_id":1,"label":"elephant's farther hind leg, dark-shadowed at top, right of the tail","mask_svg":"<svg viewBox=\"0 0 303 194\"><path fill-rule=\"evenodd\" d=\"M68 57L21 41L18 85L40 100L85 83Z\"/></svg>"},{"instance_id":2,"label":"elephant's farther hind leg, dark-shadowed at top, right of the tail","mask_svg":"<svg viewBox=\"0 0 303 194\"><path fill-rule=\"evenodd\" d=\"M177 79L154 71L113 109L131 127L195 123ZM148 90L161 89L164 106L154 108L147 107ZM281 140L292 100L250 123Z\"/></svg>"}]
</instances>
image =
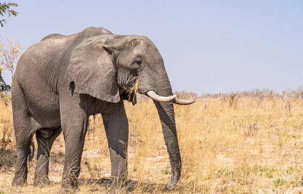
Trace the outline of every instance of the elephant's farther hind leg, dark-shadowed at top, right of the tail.
<instances>
[{"instance_id":1,"label":"elephant's farther hind leg, dark-shadowed at top, right of the tail","mask_svg":"<svg viewBox=\"0 0 303 194\"><path fill-rule=\"evenodd\" d=\"M45 135L39 130L36 132L38 153L37 165L34 176L35 186L44 186L50 183L48 180L49 153L51 152L54 141L62 132L61 126L53 129L51 132L52 134L48 137L45 137Z\"/></svg>"}]
</instances>

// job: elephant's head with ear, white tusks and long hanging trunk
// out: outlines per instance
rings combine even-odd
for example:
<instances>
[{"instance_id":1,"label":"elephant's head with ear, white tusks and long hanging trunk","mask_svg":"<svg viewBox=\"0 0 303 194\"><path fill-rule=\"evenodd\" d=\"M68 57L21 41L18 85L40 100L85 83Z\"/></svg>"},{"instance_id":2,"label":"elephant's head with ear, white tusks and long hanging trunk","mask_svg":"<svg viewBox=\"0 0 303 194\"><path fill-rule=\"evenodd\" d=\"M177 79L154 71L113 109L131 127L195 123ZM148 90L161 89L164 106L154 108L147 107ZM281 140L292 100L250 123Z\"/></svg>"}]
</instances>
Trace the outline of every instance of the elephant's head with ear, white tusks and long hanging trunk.
<instances>
[{"instance_id":1,"label":"elephant's head with ear, white tusks and long hanging trunk","mask_svg":"<svg viewBox=\"0 0 303 194\"><path fill-rule=\"evenodd\" d=\"M71 54L67 76L75 93L100 100L119 102L120 94L139 92L154 100L169 153L172 188L180 178L181 157L178 146L174 106L191 104L173 95L161 54L144 36L98 35L80 43Z\"/></svg>"}]
</instances>

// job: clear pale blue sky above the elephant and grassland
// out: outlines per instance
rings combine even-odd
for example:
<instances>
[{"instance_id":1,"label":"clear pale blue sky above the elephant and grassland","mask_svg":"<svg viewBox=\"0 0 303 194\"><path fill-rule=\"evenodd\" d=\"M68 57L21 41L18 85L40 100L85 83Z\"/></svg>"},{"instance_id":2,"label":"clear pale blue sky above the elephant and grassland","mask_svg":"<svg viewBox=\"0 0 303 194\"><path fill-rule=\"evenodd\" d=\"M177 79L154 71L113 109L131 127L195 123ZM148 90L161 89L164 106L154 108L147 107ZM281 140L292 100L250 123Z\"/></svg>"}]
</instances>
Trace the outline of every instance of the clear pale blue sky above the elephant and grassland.
<instances>
[{"instance_id":1,"label":"clear pale blue sky above the elephant and grassland","mask_svg":"<svg viewBox=\"0 0 303 194\"><path fill-rule=\"evenodd\" d=\"M12 0L13 1L13 0ZM162 54L173 90L199 94L303 84L303 1L13 1L11 33L28 48L86 27L144 35ZM5 80L11 83L10 75Z\"/></svg>"}]
</instances>

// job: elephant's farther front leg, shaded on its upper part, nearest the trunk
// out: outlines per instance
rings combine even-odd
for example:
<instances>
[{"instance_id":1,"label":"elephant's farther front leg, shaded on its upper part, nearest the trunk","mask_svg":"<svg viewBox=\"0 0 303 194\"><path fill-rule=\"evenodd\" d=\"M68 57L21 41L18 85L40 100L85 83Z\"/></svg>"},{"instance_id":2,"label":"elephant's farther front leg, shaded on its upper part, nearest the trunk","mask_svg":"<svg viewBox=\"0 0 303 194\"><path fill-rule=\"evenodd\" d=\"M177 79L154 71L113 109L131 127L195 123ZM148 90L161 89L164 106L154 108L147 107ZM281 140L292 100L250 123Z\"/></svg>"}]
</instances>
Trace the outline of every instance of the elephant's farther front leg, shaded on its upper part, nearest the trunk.
<instances>
[{"instance_id":1,"label":"elephant's farther front leg, shaded on its upper part, nearest the trunk","mask_svg":"<svg viewBox=\"0 0 303 194\"><path fill-rule=\"evenodd\" d=\"M102 114L112 163L112 182L124 185L127 178L128 120L123 100L115 110Z\"/></svg>"}]
</instances>

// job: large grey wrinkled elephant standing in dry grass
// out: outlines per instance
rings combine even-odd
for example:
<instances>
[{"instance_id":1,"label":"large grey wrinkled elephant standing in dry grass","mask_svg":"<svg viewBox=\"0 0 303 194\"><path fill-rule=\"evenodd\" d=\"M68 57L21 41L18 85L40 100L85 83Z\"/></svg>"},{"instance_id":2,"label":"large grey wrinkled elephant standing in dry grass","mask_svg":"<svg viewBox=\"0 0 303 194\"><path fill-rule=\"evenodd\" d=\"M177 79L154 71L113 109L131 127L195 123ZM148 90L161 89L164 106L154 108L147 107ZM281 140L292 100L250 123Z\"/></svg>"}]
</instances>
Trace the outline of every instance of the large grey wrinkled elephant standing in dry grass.
<instances>
[{"instance_id":1,"label":"large grey wrinkled elephant standing in dry grass","mask_svg":"<svg viewBox=\"0 0 303 194\"><path fill-rule=\"evenodd\" d=\"M33 135L37 140L34 185L49 184L49 154L63 133L65 160L61 187L78 188L90 115L102 114L111 158L112 183L127 178L128 119L124 100L136 92L153 99L171 164L172 189L181 174L173 104L195 100L173 95L163 58L145 36L115 35L89 27L72 35L51 34L20 57L12 81L17 161L13 186L27 183Z\"/></svg>"}]
</instances>

